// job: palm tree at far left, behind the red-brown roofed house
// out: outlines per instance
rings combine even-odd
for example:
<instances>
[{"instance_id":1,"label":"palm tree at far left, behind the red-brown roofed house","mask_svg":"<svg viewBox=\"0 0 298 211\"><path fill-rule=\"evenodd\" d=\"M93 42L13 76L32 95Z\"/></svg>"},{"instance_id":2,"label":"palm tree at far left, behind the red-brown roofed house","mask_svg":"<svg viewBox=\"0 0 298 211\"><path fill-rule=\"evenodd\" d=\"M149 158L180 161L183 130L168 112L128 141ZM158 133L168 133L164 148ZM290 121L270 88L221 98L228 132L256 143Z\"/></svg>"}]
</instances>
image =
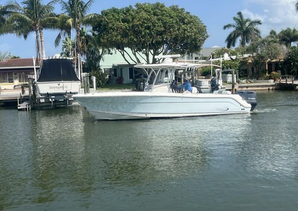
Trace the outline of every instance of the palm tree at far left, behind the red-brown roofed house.
<instances>
[{"instance_id":1,"label":"palm tree at far left, behind the red-brown roofed house","mask_svg":"<svg viewBox=\"0 0 298 211\"><path fill-rule=\"evenodd\" d=\"M21 6L16 1L9 2L6 6L14 12L8 18L6 33L14 33L27 39L31 32L36 34L37 57L46 56L44 46L44 28L53 28L49 18L55 16L53 13L54 4L57 0L52 0L47 4L42 4L41 0L23 0Z\"/></svg>"}]
</instances>

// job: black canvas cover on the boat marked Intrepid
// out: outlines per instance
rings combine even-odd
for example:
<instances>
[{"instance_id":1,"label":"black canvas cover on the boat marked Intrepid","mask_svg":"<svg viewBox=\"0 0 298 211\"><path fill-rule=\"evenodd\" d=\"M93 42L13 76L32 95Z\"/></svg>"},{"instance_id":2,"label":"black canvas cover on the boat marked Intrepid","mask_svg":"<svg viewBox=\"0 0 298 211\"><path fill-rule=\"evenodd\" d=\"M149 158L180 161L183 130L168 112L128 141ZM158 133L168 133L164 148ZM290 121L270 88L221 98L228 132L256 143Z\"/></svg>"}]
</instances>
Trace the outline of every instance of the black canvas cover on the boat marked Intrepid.
<instances>
[{"instance_id":1,"label":"black canvas cover on the boat marked Intrepid","mask_svg":"<svg viewBox=\"0 0 298 211\"><path fill-rule=\"evenodd\" d=\"M43 60L37 82L79 81L70 59Z\"/></svg>"}]
</instances>

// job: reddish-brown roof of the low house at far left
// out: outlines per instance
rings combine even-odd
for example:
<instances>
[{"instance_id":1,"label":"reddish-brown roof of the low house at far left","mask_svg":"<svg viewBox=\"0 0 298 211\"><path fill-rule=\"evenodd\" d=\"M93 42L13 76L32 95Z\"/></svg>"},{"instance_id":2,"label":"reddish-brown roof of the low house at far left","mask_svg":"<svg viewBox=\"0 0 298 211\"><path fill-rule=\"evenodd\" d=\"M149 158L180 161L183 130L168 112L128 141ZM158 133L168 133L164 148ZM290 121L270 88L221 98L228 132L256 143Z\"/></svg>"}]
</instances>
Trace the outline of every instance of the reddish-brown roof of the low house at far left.
<instances>
[{"instance_id":1,"label":"reddish-brown roof of the low house at far left","mask_svg":"<svg viewBox=\"0 0 298 211\"><path fill-rule=\"evenodd\" d=\"M35 66L39 67L39 60L36 60ZM21 69L33 67L32 58L6 59L4 62L0 62L0 69Z\"/></svg>"}]
</instances>

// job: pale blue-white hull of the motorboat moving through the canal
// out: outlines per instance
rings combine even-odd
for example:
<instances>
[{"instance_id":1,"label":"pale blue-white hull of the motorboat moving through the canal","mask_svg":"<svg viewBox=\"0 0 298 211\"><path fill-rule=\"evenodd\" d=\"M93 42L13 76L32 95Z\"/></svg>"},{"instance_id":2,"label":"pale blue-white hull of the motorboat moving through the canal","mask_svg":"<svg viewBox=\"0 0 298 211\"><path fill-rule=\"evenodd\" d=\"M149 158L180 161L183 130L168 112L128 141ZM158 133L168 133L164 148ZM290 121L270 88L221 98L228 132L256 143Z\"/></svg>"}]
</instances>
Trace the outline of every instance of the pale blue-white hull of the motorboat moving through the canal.
<instances>
[{"instance_id":1,"label":"pale blue-white hull of the motorboat moving through the canal","mask_svg":"<svg viewBox=\"0 0 298 211\"><path fill-rule=\"evenodd\" d=\"M95 119L148 119L249 113L238 95L110 92L73 96Z\"/></svg>"}]
</instances>

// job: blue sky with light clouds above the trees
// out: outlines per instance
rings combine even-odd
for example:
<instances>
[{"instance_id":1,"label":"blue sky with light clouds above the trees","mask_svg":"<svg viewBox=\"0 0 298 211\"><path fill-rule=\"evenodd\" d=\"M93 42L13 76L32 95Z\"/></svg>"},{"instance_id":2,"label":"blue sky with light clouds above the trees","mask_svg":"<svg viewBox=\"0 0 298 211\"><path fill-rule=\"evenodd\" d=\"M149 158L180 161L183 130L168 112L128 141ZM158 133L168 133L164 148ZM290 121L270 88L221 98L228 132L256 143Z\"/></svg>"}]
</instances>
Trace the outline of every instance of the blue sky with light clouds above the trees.
<instances>
[{"instance_id":1,"label":"blue sky with light clouds above the trees","mask_svg":"<svg viewBox=\"0 0 298 211\"><path fill-rule=\"evenodd\" d=\"M16 0L21 2L21 0ZM3 5L7 1L0 0ZM49 0L43 0L48 3ZM86 2L86 0L85 0ZM90 13L100 13L103 9L111 7L125 7L135 5L137 2L157 2L156 0L95 0ZM159 0L166 6L178 5L193 15L197 15L207 26L209 38L203 47L225 46L225 39L230 30L223 30L223 26L233 23L232 17L241 11L244 17L260 19L259 26L262 37L267 36L271 29L279 32L287 27L294 28L298 24L298 12L295 10L297 0ZM61 12L61 6L56 4L55 12ZM61 46L55 47L54 40L58 31L44 31L46 55L53 56L61 53ZM21 58L32 58L35 53L35 33L27 40L17 38L13 34L0 36L0 52L10 52L11 55Z\"/></svg>"}]
</instances>

